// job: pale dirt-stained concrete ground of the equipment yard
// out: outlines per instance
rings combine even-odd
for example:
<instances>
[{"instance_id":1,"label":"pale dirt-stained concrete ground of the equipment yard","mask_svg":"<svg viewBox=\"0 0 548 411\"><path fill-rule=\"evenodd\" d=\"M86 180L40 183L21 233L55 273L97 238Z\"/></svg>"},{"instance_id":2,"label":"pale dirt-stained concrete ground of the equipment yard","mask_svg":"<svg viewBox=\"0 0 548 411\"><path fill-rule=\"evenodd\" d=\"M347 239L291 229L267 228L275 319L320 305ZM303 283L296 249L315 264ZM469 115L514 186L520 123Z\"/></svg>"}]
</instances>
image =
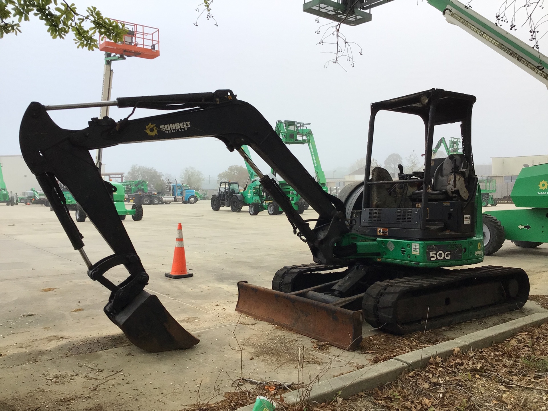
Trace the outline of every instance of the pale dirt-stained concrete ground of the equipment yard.
<instances>
[{"instance_id":1,"label":"pale dirt-stained concrete ground of the equipment yard","mask_svg":"<svg viewBox=\"0 0 548 411\"><path fill-rule=\"evenodd\" d=\"M313 210L305 213L315 217ZM183 281L164 277L178 222L183 222L187 261L195 273ZM137 349L102 312L108 291L87 277L53 213L41 206L0 206L1 411L180 410L198 398L203 403L234 391L240 376L286 383L304 376L307 381L329 364L323 378L330 378L542 310L538 298L539 304L529 302L522 311L404 339L366 324L360 349L342 352L234 311L237 281L270 287L282 266L311 262L285 216L213 212L208 202L198 202L146 206L142 221L123 224L151 277L147 290L201 342L166 353ZM92 261L111 253L89 221L78 228ZM548 294L546 256L546 245L524 250L506 242L484 264L523 267L531 294L542 296ZM107 276L119 282L125 270L115 267ZM234 407L238 401L232 401Z\"/></svg>"}]
</instances>

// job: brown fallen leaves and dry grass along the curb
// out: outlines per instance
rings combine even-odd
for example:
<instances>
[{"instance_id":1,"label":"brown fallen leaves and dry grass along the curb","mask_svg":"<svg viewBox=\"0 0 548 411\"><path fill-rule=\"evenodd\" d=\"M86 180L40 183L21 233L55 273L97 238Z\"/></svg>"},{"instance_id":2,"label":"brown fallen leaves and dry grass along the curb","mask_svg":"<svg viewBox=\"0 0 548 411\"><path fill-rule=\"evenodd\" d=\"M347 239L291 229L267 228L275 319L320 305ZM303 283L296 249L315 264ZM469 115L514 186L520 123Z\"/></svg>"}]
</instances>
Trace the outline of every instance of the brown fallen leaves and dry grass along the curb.
<instances>
[{"instance_id":1,"label":"brown fallen leaves and dry grass along the curb","mask_svg":"<svg viewBox=\"0 0 548 411\"><path fill-rule=\"evenodd\" d=\"M278 409L290 411L540 411L548 409L546 335L548 324L543 324L486 349L468 352L455 349L447 359L430 358L426 368L404 373L393 383L348 399L334 398L328 403L294 406L284 403L283 390L270 391L272 387L265 386L238 387L234 392L224 393L224 398L218 402L195 404L184 411L234 411L254 403L258 395L273 398ZM424 342L422 334L405 338L379 334L367 341L362 349L379 350L377 359L380 359L381 350L402 353L403 345L411 344L410 351L436 344L438 338L435 330L426 333ZM394 346L390 347L391 344Z\"/></svg>"}]
</instances>

